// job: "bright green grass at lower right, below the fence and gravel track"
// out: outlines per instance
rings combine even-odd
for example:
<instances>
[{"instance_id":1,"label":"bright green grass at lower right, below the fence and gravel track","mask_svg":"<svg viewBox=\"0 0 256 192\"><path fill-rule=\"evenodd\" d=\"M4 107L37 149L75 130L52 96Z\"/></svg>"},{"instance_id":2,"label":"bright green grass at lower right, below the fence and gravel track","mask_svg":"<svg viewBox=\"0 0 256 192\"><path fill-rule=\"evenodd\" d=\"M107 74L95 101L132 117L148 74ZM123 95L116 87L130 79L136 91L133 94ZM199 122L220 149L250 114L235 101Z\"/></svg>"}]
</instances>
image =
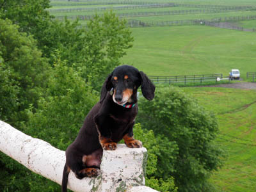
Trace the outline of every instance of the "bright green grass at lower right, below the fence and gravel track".
<instances>
[{"instance_id":1,"label":"bright green grass at lower right, below the fence and gravel track","mask_svg":"<svg viewBox=\"0 0 256 192\"><path fill-rule=\"evenodd\" d=\"M218 118L220 134L216 142L225 150L226 157L223 167L213 173L211 183L218 191L255 191L256 103L253 102L256 91L234 88L183 90Z\"/></svg>"}]
</instances>

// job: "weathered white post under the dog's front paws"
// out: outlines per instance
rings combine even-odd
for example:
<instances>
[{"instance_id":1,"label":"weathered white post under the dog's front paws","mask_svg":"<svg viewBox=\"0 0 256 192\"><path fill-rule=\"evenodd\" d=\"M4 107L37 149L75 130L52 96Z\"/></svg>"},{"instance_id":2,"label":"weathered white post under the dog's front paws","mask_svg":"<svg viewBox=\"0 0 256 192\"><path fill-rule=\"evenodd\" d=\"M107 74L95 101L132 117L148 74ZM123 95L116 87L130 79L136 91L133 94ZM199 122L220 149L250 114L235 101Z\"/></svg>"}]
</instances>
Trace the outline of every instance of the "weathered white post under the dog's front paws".
<instances>
[{"instance_id":1,"label":"weathered white post under the dog's front paws","mask_svg":"<svg viewBox=\"0 0 256 192\"><path fill-rule=\"evenodd\" d=\"M104 150L100 170L101 191L125 191L132 186L145 185L147 149L117 145L116 150Z\"/></svg>"}]
</instances>

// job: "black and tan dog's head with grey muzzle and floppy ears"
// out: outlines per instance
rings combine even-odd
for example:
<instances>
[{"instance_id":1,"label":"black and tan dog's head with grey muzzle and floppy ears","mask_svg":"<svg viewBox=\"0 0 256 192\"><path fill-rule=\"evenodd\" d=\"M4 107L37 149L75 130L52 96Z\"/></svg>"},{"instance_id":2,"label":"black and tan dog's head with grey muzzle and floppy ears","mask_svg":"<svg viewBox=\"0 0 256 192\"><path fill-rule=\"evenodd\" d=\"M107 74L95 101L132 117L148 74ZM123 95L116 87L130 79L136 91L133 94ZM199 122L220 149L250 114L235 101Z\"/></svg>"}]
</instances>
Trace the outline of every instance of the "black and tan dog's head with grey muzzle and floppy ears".
<instances>
[{"instance_id":1,"label":"black and tan dog's head with grey muzzle and floppy ears","mask_svg":"<svg viewBox=\"0 0 256 192\"><path fill-rule=\"evenodd\" d=\"M137 102L137 90L140 86L143 96L152 100L155 86L142 71L129 65L116 67L102 86L100 102L113 89L113 101L116 104L134 104Z\"/></svg>"}]
</instances>

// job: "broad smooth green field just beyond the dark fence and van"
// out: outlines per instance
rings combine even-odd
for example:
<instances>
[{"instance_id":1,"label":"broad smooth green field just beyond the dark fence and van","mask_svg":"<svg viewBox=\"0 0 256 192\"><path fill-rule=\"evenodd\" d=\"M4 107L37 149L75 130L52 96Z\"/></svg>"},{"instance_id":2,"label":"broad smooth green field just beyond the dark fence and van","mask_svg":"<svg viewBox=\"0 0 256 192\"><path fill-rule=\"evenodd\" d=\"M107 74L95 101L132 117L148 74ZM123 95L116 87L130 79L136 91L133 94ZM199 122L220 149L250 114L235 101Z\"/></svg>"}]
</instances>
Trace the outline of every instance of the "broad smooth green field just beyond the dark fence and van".
<instances>
[{"instance_id":1,"label":"broad smooth green field just beyond the dark fence and van","mask_svg":"<svg viewBox=\"0 0 256 192\"><path fill-rule=\"evenodd\" d=\"M133 28L134 47L124 63L148 75L222 73L239 68L256 71L256 33L209 26Z\"/></svg>"}]
</instances>

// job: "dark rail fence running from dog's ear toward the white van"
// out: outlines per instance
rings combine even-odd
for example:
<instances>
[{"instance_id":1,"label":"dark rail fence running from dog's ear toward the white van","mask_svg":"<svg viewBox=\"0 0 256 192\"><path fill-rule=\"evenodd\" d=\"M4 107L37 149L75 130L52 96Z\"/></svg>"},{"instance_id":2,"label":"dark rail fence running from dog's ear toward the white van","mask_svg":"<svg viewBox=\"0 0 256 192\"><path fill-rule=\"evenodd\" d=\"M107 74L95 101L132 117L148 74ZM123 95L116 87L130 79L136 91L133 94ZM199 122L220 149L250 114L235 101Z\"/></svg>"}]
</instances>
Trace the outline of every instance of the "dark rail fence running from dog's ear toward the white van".
<instances>
[{"instance_id":1,"label":"dark rail fence running from dog's ear toward the white van","mask_svg":"<svg viewBox=\"0 0 256 192\"><path fill-rule=\"evenodd\" d=\"M222 74L203 74L203 75L189 75L189 76L148 76L153 83L175 84L184 83L200 83L205 81L217 81L217 78L222 78Z\"/></svg>"}]
</instances>

